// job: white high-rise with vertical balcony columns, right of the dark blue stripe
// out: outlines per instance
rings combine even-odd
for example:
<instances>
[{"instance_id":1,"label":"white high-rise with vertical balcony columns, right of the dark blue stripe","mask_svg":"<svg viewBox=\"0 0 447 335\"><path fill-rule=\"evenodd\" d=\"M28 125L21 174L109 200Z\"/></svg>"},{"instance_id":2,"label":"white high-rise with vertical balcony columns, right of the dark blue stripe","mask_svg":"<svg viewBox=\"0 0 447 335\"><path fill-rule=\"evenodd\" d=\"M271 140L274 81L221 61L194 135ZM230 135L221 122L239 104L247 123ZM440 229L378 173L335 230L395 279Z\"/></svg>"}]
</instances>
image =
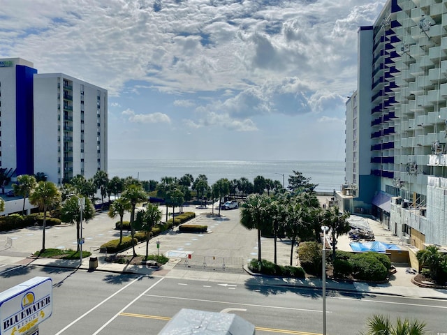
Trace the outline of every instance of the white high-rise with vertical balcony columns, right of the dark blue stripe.
<instances>
[{"instance_id":1,"label":"white high-rise with vertical balcony columns, right of the dark blue stripe","mask_svg":"<svg viewBox=\"0 0 447 335\"><path fill-rule=\"evenodd\" d=\"M107 90L62 73L34 75L34 168L57 184L107 171Z\"/></svg>"}]
</instances>

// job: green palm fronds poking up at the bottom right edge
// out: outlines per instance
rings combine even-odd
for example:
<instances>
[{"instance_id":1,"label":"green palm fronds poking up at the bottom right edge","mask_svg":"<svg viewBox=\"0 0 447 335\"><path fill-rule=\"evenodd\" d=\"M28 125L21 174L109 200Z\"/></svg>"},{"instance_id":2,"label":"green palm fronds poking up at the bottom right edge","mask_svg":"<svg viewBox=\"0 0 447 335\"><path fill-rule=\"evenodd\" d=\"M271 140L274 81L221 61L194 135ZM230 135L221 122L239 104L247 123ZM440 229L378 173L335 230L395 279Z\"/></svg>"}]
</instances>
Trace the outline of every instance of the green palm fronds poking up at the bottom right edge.
<instances>
[{"instance_id":1,"label":"green palm fronds poking up at the bottom right edge","mask_svg":"<svg viewBox=\"0 0 447 335\"><path fill-rule=\"evenodd\" d=\"M423 335L427 334L425 327L425 322L418 320L397 318L393 325L388 316L373 315L367 320L368 330L365 335Z\"/></svg>"}]
</instances>

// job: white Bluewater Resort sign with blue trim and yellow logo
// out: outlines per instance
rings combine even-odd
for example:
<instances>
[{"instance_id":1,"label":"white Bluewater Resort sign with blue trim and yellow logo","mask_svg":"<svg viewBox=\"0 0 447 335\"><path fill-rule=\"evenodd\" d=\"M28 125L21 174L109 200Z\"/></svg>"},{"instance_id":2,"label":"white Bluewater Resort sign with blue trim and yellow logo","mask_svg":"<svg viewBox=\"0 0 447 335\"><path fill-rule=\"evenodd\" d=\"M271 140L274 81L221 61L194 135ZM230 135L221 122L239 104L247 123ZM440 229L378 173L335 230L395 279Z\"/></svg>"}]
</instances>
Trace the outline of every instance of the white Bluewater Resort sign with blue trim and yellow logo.
<instances>
[{"instance_id":1,"label":"white Bluewater Resort sign with blue trim and yellow logo","mask_svg":"<svg viewBox=\"0 0 447 335\"><path fill-rule=\"evenodd\" d=\"M34 277L0 293L0 335L36 334L52 314L52 281Z\"/></svg>"}]
</instances>

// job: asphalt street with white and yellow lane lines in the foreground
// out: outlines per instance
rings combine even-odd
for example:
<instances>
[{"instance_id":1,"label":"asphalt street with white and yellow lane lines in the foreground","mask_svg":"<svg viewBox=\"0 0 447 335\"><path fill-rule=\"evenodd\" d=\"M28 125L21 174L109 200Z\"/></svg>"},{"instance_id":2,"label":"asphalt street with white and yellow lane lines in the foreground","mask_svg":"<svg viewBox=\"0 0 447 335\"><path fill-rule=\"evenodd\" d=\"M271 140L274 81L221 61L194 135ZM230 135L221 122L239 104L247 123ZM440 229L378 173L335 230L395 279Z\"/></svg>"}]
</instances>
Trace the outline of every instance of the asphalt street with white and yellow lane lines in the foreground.
<instances>
[{"instance_id":1,"label":"asphalt street with white and yellow lane lines in the foreground","mask_svg":"<svg viewBox=\"0 0 447 335\"><path fill-rule=\"evenodd\" d=\"M1 288L50 276L53 313L40 334L158 334L181 308L235 313L256 334L321 334L321 292L209 281L179 281L82 270L21 267L1 272ZM359 334L374 313L427 322L429 334L447 332L447 301L328 292L328 334Z\"/></svg>"}]
</instances>

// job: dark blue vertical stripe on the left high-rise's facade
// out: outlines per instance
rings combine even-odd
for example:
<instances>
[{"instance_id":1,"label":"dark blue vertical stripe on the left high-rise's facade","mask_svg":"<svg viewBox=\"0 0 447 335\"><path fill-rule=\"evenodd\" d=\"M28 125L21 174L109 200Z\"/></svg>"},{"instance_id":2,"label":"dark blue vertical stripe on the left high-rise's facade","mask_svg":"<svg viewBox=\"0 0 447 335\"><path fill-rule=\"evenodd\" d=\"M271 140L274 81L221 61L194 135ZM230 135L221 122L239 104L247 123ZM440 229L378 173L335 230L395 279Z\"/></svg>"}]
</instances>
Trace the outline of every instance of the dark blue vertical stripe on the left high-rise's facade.
<instances>
[{"instance_id":1,"label":"dark blue vertical stripe on the left high-rise's facade","mask_svg":"<svg viewBox=\"0 0 447 335\"><path fill-rule=\"evenodd\" d=\"M15 66L17 176L34 174L33 76L35 73L37 73L35 68L22 65Z\"/></svg>"}]
</instances>

